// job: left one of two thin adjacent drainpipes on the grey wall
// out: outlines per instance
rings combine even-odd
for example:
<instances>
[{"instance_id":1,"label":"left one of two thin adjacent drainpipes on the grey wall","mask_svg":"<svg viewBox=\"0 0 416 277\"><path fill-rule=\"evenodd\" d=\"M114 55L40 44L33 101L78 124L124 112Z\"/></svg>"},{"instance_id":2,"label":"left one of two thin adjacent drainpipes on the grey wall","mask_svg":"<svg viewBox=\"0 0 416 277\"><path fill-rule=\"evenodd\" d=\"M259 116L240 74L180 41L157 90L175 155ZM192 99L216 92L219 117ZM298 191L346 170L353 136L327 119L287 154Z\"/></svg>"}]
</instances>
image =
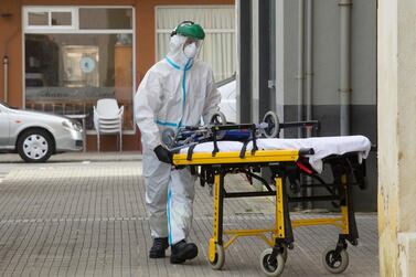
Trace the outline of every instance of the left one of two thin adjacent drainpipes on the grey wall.
<instances>
[{"instance_id":1,"label":"left one of two thin adjacent drainpipes on the grey wall","mask_svg":"<svg viewBox=\"0 0 416 277\"><path fill-rule=\"evenodd\" d=\"M299 0L298 11L298 121L303 121L303 24L305 0ZM298 128L298 138L302 137L302 129Z\"/></svg>"}]
</instances>

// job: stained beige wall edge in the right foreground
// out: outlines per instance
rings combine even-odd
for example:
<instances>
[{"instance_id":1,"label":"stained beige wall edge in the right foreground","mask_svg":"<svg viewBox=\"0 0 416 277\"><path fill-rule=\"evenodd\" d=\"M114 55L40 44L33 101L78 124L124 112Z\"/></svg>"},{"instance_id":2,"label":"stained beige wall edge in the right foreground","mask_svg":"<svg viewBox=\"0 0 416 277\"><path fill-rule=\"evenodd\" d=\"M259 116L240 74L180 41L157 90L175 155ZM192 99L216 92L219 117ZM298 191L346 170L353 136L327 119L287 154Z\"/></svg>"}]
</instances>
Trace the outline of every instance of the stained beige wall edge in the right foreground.
<instances>
[{"instance_id":1,"label":"stained beige wall edge in the right foreground","mask_svg":"<svg viewBox=\"0 0 416 277\"><path fill-rule=\"evenodd\" d=\"M378 1L381 276L416 276L416 1Z\"/></svg>"}]
</instances>

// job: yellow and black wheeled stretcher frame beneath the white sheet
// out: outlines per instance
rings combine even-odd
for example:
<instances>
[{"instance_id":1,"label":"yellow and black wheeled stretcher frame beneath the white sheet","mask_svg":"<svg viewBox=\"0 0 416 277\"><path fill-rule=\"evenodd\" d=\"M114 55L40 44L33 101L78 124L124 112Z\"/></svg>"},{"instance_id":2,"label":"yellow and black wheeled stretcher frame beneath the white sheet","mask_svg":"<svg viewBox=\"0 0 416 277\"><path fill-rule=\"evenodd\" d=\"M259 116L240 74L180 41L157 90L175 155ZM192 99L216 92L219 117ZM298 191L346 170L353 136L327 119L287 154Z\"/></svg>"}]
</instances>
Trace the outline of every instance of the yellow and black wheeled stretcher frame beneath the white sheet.
<instances>
[{"instance_id":1,"label":"yellow and black wheeled stretcher frame beneath the white sheet","mask_svg":"<svg viewBox=\"0 0 416 277\"><path fill-rule=\"evenodd\" d=\"M257 236L263 238L270 248L263 252L260 266L267 276L279 276L284 271L287 249L294 247L292 228L310 225L335 225L340 227L338 243L323 253L324 267L334 274L342 273L349 265L346 242L358 244L358 230L351 202L350 187L364 185L365 164L356 162L355 153L332 156L324 159L332 168L333 183L327 184L307 166L307 155L312 149L301 150L249 150L244 152L194 152L177 153L173 164L200 167L201 180L213 184L213 234L209 245L209 262L213 269L220 270L225 262L225 249L238 237ZM254 174L259 168L271 171L270 185L262 177ZM224 177L227 173L243 172L259 179L266 191L258 192L227 192ZM294 172L317 179L321 187L328 189L328 195L290 198L286 182ZM292 180L292 178L291 178ZM355 180L355 182L353 182ZM275 187L275 188L274 188ZM276 196L276 220L270 228L265 230L223 230L223 205L225 198ZM339 203L341 216L330 219L309 219L290 221L288 203L299 201L332 201ZM225 242L223 235L231 238Z\"/></svg>"}]
</instances>

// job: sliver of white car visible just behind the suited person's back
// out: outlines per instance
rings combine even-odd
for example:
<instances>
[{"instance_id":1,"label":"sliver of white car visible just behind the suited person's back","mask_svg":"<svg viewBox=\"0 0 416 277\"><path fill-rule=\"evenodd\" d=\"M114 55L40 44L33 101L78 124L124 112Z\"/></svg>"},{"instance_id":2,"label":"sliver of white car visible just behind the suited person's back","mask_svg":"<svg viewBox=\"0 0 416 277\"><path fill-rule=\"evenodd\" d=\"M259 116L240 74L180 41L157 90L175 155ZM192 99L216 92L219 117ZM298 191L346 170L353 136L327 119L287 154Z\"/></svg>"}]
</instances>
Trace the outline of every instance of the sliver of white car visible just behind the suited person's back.
<instances>
[{"instance_id":1,"label":"sliver of white car visible just behind the suited person's back","mask_svg":"<svg viewBox=\"0 0 416 277\"><path fill-rule=\"evenodd\" d=\"M235 75L216 83L221 93L220 110L231 124L235 124L237 120L236 84Z\"/></svg>"}]
</instances>

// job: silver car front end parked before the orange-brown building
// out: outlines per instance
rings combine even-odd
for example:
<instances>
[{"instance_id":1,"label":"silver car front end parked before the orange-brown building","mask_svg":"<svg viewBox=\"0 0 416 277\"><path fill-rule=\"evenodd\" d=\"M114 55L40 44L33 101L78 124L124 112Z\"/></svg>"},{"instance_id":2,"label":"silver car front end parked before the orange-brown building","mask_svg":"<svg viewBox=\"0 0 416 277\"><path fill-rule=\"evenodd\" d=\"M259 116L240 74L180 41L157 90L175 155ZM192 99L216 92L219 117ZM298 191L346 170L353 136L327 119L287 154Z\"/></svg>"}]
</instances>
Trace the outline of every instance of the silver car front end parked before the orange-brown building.
<instances>
[{"instance_id":1,"label":"silver car front end parked before the orange-brown building","mask_svg":"<svg viewBox=\"0 0 416 277\"><path fill-rule=\"evenodd\" d=\"M83 149L83 128L66 117L21 110L0 102L0 151L19 152L26 162Z\"/></svg>"}]
</instances>

